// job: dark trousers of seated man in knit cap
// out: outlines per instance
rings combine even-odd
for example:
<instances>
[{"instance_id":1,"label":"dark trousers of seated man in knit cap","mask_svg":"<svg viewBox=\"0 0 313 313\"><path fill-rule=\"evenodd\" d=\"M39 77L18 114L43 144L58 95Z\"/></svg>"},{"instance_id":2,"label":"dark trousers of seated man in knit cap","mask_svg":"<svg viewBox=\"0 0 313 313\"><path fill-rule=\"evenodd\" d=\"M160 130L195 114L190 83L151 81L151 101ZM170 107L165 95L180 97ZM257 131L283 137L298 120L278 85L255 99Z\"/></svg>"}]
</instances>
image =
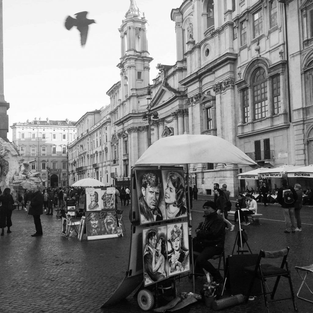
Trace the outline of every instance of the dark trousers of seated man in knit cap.
<instances>
[{"instance_id":1,"label":"dark trousers of seated man in knit cap","mask_svg":"<svg viewBox=\"0 0 313 313\"><path fill-rule=\"evenodd\" d=\"M200 255L198 255L196 259L195 273L203 273L203 269L205 269L213 276L213 280L219 278L221 276L220 272L208 261L208 259L211 259L213 255L221 254L223 248L215 246L204 247L202 251L198 251L201 249L195 247L193 250L200 252Z\"/></svg>"}]
</instances>

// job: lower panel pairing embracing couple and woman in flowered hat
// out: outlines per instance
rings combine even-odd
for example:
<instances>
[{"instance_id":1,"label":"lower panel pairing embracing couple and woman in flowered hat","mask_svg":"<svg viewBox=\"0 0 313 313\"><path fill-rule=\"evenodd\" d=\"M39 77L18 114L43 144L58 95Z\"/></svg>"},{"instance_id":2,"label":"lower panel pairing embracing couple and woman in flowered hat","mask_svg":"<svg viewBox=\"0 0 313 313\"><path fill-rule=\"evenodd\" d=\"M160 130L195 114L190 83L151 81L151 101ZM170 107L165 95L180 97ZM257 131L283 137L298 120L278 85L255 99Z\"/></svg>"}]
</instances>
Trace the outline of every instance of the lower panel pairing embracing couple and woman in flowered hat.
<instances>
[{"instance_id":1,"label":"lower panel pairing embracing couple and woman in flowered hat","mask_svg":"<svg viewBox=\"0 0 313 313\"><path fill-rule=\"evenodd\" d=\"M144 285L190 270L188 223L144 228L142 232Z\"/></svg>"}]
</instances>

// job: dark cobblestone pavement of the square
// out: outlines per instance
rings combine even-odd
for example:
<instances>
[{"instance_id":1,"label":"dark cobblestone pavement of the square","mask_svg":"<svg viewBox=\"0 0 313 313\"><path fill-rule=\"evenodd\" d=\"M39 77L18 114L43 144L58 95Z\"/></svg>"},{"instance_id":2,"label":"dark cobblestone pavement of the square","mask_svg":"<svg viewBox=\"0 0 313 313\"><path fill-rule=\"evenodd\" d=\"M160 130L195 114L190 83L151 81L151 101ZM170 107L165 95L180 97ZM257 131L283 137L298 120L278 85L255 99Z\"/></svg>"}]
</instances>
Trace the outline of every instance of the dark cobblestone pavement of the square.
<instances>
[{"instance_id":1,"label":"dark cobblestone pavement of the square","mask_svg":"<svg viewBox=\"0 0 313 313\"><path fill-rule=\"evenodd\" d=\"M199 197L201 198L201 196ZM202 197L204 198L204 197ZM192 225L203 220L203 200L193 202ZM44 235L30 237L35 232L33 217L25 211L13 211L12 233L0 237L0 312L142 312L136 299L129 296L105 310L101 305L110 297L124 278L128 265L130 245L129 207L124 209L126 231L122 238L82 242L77 237L66 239L61 235L61 222L54 216L42 215ZM300 277L294 266L313 263L313 208L301 210L303 231L285 234L283 213L278 206L259 205L263 214L260 226L246 226L249 246L253 253L260 249L277 250L290 247L289 265L295 292ZM54 213L55 214L55 213ZM227 231L225 253L231 254L235 231ZM193 231L194 233L194 231ZM311 279L312 283L312 279ZM203 285L196 280L196 292ZM192 281L187 277L177 283L178 291L192 291ZM286 279L281 279L277 296L288 292ZM227 295L227 294L226 294ZM310 296L310 295L308 295ZM311 296L312 297L312 296ZM311 313L313 305L297 299L300 313ZM270 312L293 312L291 300L269 304ZM211 312L203 303L196 303L180 312ZM248 304L237 305L224 312L265 312L264 300L257 297Z\"/></svg>"}]
</instances>

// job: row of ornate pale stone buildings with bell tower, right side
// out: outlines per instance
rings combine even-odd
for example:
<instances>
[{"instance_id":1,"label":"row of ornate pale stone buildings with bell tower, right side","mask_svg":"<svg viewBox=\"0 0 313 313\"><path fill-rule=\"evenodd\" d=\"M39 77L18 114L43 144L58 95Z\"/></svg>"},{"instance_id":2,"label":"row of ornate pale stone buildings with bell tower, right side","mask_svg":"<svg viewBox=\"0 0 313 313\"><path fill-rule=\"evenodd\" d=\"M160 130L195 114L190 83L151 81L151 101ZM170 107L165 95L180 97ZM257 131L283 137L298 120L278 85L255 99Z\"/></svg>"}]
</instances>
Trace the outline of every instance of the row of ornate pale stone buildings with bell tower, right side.
<instances>
[{"instance_id":1,"label":"row of ornate pale stone buildings with bell tower, right side","mask_svg":"<svg viewBox=\"0 0 313 313\"><path fill-rule=\"evenodd\" d=\"M184 133L220 136L260 166L313 163L312 1L183 1L171 12L177 60L174 65L160 60L152 85L148 21L136 1L130 3L119 28L121 80L107 91L110 105L86 113L98 116L92 131L101 132L102 145L96 149L84 115L69 146L69 183L99 177L99 171L106 184L130 177L150 140ZM145 113L151 116L150 132ZM87 138L89 148L81 148ZM82 150L74 153L77 149ZM83 169L77 172L74 163ZM237 174L251 169L194 163L189 172L197 172L200 193L210 194L218 182L235 195L246 187Z\"/></svg>"}]
</instances>

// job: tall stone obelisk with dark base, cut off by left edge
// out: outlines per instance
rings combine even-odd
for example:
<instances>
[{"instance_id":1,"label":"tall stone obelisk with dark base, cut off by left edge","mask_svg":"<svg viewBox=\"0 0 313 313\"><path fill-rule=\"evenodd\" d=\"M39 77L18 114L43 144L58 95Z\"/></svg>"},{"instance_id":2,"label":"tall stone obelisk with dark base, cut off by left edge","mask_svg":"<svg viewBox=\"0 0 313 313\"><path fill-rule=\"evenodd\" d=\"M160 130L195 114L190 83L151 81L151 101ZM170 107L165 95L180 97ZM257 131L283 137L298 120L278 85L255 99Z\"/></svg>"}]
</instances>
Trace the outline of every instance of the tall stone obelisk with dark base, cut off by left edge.
<instances>
[{"instance_id":1,"label":"tall stone obelisk with dark base, cut off by left edge","mask_svg":"<svg viewBox=\"0 0 313 313\"><path fill-rule=\"evenodd\" d=\"M4 100L3 88L3 12L2 0L0 0L0 138L8 141L9 117L7 110L10 104Z\"/></svg>"}]
</instances>

